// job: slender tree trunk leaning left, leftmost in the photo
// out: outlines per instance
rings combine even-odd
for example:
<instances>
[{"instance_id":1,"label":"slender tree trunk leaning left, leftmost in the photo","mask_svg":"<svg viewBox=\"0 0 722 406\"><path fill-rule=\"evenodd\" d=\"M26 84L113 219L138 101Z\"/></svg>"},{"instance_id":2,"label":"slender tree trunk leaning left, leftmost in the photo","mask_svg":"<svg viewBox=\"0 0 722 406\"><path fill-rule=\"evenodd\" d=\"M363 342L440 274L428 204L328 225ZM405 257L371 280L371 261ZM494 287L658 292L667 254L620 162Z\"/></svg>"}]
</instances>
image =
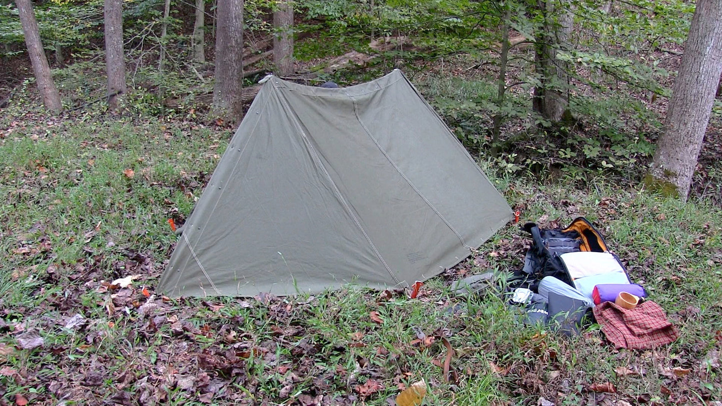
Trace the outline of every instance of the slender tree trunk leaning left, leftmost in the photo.
<instances>
[{"instance_id":1,"label":"slender tree trunk leaning left, leftmost in the photo","mask_svg":"<svg viewBox=\"0 0 722 406\"><path fill-rule=\"evenodd\" d=\"M30 55L32 71L35 73L35 81L38 83L40 97L43 97L43 105L50 112L61 112L63 104L60 101L58 88L55 87L53 76L51 76L43 44L40 43L40 30L38 21L35 20L35 12L32 11L32 4L30 0L15 0L15 4L22 24L22 32L25 34L25 45L27 45L27 53Z\"/></svg>"}]
</instances>

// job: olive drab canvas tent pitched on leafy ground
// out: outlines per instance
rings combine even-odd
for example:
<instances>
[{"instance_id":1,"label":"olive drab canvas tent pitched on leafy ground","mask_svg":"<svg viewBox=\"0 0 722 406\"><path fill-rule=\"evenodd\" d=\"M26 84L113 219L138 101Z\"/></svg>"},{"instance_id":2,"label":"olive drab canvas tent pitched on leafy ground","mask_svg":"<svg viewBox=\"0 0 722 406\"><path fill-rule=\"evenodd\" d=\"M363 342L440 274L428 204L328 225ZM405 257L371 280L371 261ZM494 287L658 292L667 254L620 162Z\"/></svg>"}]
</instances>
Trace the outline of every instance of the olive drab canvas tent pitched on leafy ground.
<instances>
[{"instance_id":1,"label":"olive drab canvas tent pitched on leafy ground","mask_svg":"<svg viewBox=\"0 0 722 406\"><path fill-rule=\"evenodd\" d=\"M181 229L163 294L408 286L511 219L401 71L336 89L267 79Z\"/></svg>"}]
</instances>

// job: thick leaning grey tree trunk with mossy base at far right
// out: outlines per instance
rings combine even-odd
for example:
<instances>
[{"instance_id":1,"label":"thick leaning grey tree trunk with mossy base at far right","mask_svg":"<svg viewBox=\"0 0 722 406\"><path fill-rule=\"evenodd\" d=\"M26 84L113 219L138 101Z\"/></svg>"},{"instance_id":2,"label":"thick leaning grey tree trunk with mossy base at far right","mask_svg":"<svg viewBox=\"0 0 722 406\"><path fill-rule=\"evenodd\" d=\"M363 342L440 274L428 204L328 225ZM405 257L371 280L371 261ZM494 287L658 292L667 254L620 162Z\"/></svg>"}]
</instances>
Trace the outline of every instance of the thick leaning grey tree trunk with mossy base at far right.
<instances>
[{"instance_id":1,"label":"thick leaning grey tree trunk with mossy base at far right","mask_svg":"<svg viewBox=\"0 0 722 406\"><path fill-rule=\"evenodd\" d=\"M690 35L672 87L664 133L657 142L648 183L684 200L690 193L722 74L722 1L697 0Z\"/></svg>"}]
</instances>

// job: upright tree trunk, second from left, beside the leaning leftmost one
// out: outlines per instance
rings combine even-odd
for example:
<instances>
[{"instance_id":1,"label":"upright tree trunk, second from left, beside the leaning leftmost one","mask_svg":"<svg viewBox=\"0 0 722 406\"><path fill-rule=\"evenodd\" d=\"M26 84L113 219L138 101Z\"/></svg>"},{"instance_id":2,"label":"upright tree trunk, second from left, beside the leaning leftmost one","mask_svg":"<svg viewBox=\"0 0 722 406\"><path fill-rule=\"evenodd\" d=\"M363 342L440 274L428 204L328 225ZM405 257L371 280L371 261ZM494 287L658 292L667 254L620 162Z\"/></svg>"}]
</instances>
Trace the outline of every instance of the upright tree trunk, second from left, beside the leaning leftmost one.
<instances>
[{"instance_id":1,"label":"upright tree trunk, second from left, beside the leaning leftmost one","mask_svg":"<svg viewBox=\"0 0 722 406\"><path fill-rule=\"evenodd\" d=\"M126 58L123 53L123 2L105 0L105 69L108 71L108 107L118 110L126 85Z\"/></svg>"}]
</instances>

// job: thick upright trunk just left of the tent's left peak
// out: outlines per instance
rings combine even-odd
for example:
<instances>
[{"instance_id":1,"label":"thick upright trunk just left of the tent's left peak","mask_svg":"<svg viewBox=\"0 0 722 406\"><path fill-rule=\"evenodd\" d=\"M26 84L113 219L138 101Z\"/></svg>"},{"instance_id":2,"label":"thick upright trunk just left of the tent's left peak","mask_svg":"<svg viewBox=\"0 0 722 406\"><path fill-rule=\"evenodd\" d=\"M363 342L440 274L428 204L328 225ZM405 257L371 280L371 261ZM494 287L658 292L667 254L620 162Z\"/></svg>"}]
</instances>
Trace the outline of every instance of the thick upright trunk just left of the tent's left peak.
<instances>
[{"instance_id":1,"label":"thick upright trunk just left of the tent's left peak","mask_svg":"<svg viewBox=\"0 0 722 406\"><path fill-rule=\"evenodd\" d=\"M212 114L235 123L243 114L243 0L218 0L217 15Z\"/></svg>"}]
</instances>

